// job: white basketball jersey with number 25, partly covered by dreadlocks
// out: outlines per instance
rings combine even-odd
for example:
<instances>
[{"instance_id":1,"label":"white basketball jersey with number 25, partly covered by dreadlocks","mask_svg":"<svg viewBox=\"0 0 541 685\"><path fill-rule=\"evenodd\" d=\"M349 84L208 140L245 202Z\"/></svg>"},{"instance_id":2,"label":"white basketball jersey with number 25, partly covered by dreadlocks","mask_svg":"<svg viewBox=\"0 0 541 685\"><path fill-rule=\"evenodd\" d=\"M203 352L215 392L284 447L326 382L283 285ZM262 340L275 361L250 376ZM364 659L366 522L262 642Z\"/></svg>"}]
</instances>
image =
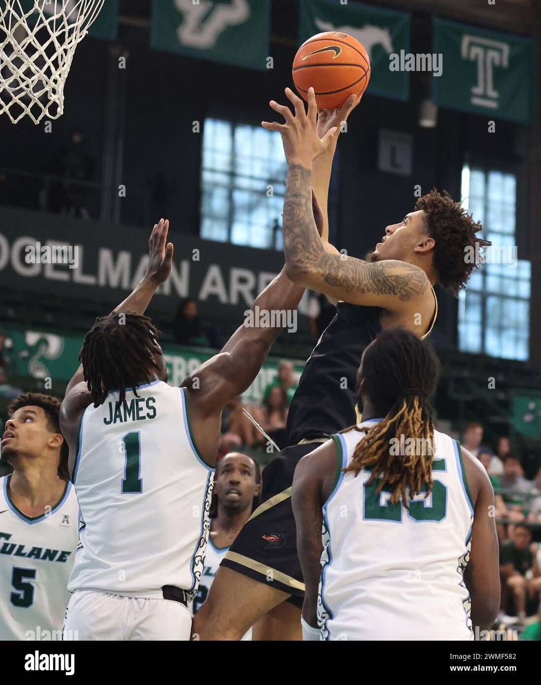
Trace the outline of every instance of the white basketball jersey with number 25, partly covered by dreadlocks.
<instances>
[{"instance_id":1,"label":"white basketball jersey with number 25, partly covered by dreadlocks","mask_svg":"<svg viewBox=\"0 0 541 685\"><path fill-rule=\"evenodd\" d=\"M377 421L365 421L369 427ZM364 432L334 436L340 466ZM473 506L455 440L434 432L433 490L390 503L370 472L340 473L323 507L318 621L324 640L470 640L462 577ZM407 445L399 449L407 451Z\"/></svg>"}]
</instances>

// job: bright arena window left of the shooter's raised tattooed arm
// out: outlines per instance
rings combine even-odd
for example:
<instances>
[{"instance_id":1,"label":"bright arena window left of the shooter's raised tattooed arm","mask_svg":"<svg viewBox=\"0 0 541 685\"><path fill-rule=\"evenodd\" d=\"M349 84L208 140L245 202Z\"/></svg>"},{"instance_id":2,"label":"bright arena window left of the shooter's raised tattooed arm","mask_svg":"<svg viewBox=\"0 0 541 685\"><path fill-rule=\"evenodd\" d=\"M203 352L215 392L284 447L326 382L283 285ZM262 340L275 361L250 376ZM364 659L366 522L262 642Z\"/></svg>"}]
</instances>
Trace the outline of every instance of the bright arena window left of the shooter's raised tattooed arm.
<instances>
[{"instance_id":1,"label":"bright arena window left of the shooter's raised tattooed arm","mask_svg":"<svg viewBox=\"0 0 541 685\"><path fill-rule=\"evenodd\" d=\"M201 238L284 249L286 158L279 133L206 119L201 169Z\"/></svg>"}]
</instances>

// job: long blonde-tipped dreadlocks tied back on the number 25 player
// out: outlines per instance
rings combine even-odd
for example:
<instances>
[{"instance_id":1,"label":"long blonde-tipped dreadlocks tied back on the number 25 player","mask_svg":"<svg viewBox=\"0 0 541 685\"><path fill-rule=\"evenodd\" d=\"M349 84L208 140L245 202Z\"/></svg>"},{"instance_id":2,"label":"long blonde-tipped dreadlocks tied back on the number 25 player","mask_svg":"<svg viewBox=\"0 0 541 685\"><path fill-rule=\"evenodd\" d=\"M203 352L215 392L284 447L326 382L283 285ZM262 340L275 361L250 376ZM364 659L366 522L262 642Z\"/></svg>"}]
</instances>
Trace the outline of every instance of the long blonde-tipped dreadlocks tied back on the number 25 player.
<instances>
[{"instance_id":1,"label":"long blonde-tipped dreadlocks tied back on the number 25 player","mask_svg":"<svg viewBox=\"0 0 541 685\"><path fill-rule=\"evenodd\" d=\"M355 476L362 469L371 469L366 482L379 479L376 494L383 488L390 491L390 501L401 499L407 507L410 498L427 484L427 497L432 489L432 459L429 449L413 449L406 456L390 449L395 438L402 445L433 445L434 427L429 395L438 385L440 362L432 347L403 328L383 331L364 352L358 380L364 381L363 392L383 421L376 423L361 438L349 466ZM360 388L361 390L361 388ZM359 428L355 427L357 430ZM427 442L429 440L429 443Z\"/></svg>"}]
</instances>

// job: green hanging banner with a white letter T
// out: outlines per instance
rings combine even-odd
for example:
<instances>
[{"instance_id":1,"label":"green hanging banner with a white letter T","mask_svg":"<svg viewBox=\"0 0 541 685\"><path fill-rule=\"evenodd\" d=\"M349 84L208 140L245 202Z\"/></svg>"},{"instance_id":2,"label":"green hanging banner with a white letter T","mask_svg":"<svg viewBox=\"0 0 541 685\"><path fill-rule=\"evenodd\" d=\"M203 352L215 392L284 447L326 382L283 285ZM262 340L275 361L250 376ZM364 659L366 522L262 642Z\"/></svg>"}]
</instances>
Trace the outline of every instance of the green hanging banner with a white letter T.
<instances>
[{"instance_id":1,"label":"green hanging banner with a white letter T","mask_svg":"<svg viewBox=\"0 0 541 685\"><path fill-rule=\"evenodd\" d=\"M534 42L433 19L433 51L443 70L432 77L434 104L453 110L533 121Z\"/></svg>"}]
</instances>

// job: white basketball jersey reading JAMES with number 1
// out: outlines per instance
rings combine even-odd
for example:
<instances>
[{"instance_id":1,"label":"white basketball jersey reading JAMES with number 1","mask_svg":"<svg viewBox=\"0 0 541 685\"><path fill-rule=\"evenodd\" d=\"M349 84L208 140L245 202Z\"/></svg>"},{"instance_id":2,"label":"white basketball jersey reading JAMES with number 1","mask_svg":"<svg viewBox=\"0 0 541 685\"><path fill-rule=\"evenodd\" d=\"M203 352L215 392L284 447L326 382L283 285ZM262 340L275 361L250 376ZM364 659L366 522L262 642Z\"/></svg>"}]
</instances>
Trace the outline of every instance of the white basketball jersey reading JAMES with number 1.
<instances>
[{"instance_id":1,"label":"white basketball jersey reading JAMES with number 1","mask_svg":"<svg viewBox=\"0 0 541 685\"><path fill-rule=\"evenodd\" d=\"M84 525L69 590L197 593L214 468L197 452L186 390L162 381L110 393L81 417L73 482Z\"/></svg>"}]
</instances>

